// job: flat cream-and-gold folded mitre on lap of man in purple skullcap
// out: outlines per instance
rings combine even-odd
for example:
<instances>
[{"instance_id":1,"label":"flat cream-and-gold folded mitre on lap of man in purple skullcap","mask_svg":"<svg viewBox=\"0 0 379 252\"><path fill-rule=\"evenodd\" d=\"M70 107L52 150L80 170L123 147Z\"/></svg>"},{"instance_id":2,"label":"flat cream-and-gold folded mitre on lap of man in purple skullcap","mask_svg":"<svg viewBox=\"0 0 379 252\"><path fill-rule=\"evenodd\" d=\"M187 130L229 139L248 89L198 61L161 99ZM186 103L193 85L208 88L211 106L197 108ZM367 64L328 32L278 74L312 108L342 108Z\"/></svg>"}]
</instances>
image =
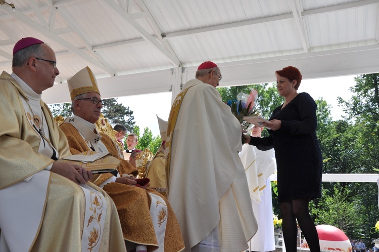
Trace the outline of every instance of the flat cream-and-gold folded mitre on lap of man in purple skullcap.
<instances>
[{"instance_id":1,"label":"flat cream-and-gold folded mitre on lap of man in purple skullcap","mask_svg":"<svg viewBox=\"0 0 379 252\"><path fill-rule=\"evenodd\" d=\"M101 174L114 172L121 160L113 157L110 153L84 151L77 155L64 157L58 161L78 164L90 170L92 174Z\"/></svg>"}]
</instances>

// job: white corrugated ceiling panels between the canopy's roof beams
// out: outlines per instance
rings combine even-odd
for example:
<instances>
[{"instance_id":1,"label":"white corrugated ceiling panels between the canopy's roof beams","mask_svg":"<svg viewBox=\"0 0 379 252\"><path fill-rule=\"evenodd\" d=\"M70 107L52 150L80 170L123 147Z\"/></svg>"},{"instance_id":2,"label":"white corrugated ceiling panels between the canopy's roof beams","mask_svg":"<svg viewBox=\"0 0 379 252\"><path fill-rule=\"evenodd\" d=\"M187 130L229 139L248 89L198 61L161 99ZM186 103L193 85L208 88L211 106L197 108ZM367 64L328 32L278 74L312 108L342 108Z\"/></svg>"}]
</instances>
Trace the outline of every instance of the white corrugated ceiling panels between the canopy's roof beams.
<instances>
[{"instance_id":1,"label":"white corrugated ceiling panels between the canopy's roof beams","mask_svg":"<svg viewBox=\"0 0 379 252\"><path fill-rule=\"evenodd\" d=\"M132 13L138 13L142 6L132 1ZM203 33L187 34L177 37L166 37L166 42L184 66L193 66L204 60L215 62L233 62L267 57L295 55L304 53L301 43L302 34L298 30L295 19L288 19L238 26L238 22L259 20L280 15L292 14L293 0L143 0L156 20L140 18L135 20L148 34L155 35L152 23L155 21L164 34L191 31L197 28L230 25L227 29L217 29ZM39 24L37 15L31 9L35 3L40 8L44 20L48 22L50 6L45 0L13 0L17 14L25 15L32 20L33 25ZM51 2L53 3L53 2ZM118 0L113 0L118 4ZM360 4L367 1L358 0L303 0L302 11L312 11L318 8ZM128 40L141 39L140 33L132 27L125 18L117 14L104 0L54 0L58 8L54 29L45 29L47 36L51 31L58 32L56 36L46 37L29 23L22 23L0 6L0 40L4 44L10 39L17 41L21 37L36 36L46 41L57 52L60 77L66 79L81 68L89 65L101 76L109 76L98 66L70 52L70 47L80 50L96 60L109 64L108 72L118 75L148 72L172 68L172 62L149 41L139 41L127 44ZM358 46L376 45L378 4L364 5L329 12L303 15L305 40L309 41L308 52L354 48ZM54 9L55 10L55 9ZM304 14L304 13L303 13ZM70 22L72 24L70 24ZM62 30L72 26L73 31ZM225 27L224 27L225 28ZM76 33L76 29L79 30ZM50 34L50 35L49 35ZM160 34L158 34L160 35ZM59 36L65 41L59 44ZM96 53L86 49L83 41L88 41L89 49L96 48ZM69 43L69 46L65 45ZM119 43L116 44L115 43ZM1 45L1 44L0 44ZM0 50L11 54L12 45L0 46ZM75 50L73 50L75 51ZM175 60L174 60L175 61ZM0 70L10 68L10 59L0 56ZM7 65L8 64L8 65ZM106 68L106 67L103 67Z\"/></svg>"}]
</instances>

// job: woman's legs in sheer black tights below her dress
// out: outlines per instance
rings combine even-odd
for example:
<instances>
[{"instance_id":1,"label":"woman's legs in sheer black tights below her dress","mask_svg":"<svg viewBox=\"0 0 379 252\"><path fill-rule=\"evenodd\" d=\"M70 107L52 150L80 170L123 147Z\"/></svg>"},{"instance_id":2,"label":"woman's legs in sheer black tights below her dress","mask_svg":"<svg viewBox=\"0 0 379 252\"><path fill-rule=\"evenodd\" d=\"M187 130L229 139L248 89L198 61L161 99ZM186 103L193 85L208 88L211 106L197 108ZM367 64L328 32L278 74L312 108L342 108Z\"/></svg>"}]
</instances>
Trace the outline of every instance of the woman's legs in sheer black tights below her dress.
<instances>
[{"instance_id":1,"label":"woman's legs in sheer black tights below her dress","mask_svg":"<svg viewBox=\"0 0 379 252\"><path fill-rule=\"evenodd\" d=\"M297 250L298 229L296 219L304 238L307 240L309 249L312 252L320 251L317 230L309 215L308 204L309 199L293 199L280 203L280 213L283 220L283 239L285 240L287 252L296 252Z\"/></svg>"}]
</instances>

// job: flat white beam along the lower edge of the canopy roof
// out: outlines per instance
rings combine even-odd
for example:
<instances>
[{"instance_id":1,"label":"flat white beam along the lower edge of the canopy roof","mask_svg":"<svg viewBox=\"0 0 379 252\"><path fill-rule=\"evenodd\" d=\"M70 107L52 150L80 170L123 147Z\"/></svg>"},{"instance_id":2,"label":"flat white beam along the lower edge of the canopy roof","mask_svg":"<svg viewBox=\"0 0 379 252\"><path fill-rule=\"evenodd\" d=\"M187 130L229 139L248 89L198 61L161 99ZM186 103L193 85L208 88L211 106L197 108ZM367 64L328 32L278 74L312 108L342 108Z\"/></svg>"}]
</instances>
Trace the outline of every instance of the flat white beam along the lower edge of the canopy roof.
<instances>
[{"instance_id":1,"label":"flat white beam along the lower edge of the canopy roof","mask_svg":"<svg viewBox=\"0 0 379 252\"><path fill-rule=\"evenodd\" d=\"M338 49L272 57L258 60L218 63L221 69L221 87L272 83L275 71L292 65L298 67L303 79L359 75L379 72L379 45L353 49ZM172 88L172 101L180 92L181 84L195 78L197 66L152 71L146 73L98 79L102 99L131 95L168 92ZM48 104L70 102L67 83L54 85L43 92Z\"/></svg>"}]
</instances>

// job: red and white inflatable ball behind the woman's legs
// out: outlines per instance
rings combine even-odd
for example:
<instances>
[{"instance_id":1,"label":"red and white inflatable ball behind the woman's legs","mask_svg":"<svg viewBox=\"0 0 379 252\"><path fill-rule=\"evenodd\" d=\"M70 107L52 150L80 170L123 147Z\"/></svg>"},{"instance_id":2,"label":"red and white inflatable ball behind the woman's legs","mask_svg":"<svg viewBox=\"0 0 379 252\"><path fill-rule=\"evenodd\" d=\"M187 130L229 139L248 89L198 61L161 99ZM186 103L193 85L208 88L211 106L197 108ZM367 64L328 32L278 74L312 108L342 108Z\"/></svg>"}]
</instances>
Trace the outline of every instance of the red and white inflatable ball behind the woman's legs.
<instances>
[{"instance_id":1,"label":"red and white inflatable ball behind the woman's legs","mask_svg":"<svg viewBox=\"0 0 379 252\"><path fill-rule=\"evenodd\" d=\"M350 240L341 229L330 225L318 225L316 229L320 240L320 249L352 252ZM303 247L309 247L305 238Z\"/></svg>"}]
</instances>

